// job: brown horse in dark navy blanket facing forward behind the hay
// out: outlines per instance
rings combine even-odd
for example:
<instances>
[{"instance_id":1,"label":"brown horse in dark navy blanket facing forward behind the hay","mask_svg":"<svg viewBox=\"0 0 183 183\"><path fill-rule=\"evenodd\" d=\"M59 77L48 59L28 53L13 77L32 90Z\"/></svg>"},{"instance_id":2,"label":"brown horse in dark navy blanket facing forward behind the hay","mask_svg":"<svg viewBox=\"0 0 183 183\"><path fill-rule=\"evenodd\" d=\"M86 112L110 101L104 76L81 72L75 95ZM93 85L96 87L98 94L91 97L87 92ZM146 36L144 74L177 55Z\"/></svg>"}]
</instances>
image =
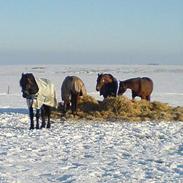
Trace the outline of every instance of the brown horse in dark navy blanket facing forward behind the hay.
<instances>
[{"instance_id":1,"label":"brown horse in dark navy blanket facing forward behind the hay","mask_svg":"<svg viewBox=\"0 0 183 183\"><path fill-rule=\"evenodd\" d=\"M104 98L116 97L118 81L111 74L98 74L96 91L100 92Z\"/></svg>"}]
</instances>

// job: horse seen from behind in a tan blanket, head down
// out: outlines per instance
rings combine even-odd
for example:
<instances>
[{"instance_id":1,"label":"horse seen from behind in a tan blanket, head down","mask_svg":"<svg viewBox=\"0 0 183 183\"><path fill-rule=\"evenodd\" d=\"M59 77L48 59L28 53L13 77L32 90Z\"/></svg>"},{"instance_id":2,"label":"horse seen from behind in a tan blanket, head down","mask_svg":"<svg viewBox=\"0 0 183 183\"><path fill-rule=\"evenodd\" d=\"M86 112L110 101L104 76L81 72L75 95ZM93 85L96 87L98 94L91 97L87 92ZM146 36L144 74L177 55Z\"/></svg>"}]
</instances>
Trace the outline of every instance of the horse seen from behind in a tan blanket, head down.
<instances>
[{"instance_id":1,"label":"horse seen from behind in a tan blanket, head down","mask_svg":"<svg viewBox=\"0 0 183 183\"><path fill-rule=\"evenodd\" d=\"M87 91L83 81L77 76L67 76L61 86L61 98L64 101L64 113L70 108L72 114L77 113L80 96L86 96Z\"/></svg>"}]
</instances>

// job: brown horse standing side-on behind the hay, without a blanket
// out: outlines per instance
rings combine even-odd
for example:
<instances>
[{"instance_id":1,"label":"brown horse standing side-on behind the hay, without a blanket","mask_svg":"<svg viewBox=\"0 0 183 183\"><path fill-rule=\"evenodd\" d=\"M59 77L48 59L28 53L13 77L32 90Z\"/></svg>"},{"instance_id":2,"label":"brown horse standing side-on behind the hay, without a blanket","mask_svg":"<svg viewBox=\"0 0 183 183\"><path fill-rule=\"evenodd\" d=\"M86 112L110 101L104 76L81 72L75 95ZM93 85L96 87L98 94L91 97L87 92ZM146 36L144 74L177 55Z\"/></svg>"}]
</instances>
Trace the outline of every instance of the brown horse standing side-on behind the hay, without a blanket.
<instances>
[{"instance_id":1,"label":"brown horse standing side-on behind the hay, without a blanket","mask_svg":"<svg viewBox=\"0 0 183 183\"><path fill-rule=\"evenodd\" d=\"M153 91L153 81L148 77L120 81L118 95L122 95L128 88L132 91L132 100L136 96L139 96L141 99L150 101L150 95Z\"/></svg>"}]
</instances>

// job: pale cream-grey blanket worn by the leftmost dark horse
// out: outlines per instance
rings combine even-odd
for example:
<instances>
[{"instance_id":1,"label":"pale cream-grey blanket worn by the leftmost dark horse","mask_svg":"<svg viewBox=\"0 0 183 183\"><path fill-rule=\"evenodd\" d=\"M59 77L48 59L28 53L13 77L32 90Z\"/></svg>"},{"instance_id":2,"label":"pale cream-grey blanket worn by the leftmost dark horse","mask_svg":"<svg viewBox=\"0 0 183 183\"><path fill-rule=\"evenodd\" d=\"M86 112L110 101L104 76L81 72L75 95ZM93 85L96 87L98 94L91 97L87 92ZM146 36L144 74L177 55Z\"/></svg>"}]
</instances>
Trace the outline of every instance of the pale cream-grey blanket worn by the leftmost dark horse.
<instances>
[{"instance_id":1,"label":"pale cream-grey blanket worn by the leftmost dark horse","mask_svg":"<svg viewBox=\"0 0 183 183\"><path fill-rule=\"evenodd\" d=\"M57 99L54 85L47 79L35 78L39 91L32 99L27 99L27 105L33 109L40 109L43 104L57 108Z\"/></svg>"}]
</instances>

